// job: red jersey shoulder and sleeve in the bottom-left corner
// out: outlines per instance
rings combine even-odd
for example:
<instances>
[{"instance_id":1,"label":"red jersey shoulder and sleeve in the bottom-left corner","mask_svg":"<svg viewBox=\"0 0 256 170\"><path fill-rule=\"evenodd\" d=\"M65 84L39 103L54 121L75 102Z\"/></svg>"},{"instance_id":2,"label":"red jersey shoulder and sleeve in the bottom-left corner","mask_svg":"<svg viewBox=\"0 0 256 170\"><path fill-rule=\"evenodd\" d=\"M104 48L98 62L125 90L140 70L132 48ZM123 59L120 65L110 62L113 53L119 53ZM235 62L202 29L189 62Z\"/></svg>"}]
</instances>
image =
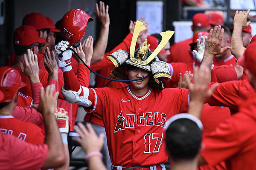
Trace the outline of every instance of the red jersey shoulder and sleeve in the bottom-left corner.
<instances>
[{"instance_id":1,"label":"red jersey shoulder and sleeve in the bottom-left corner","mask_svg":"<svg viewBox=\"0 0 256 170\"><path fill-rule=\"evenodd\" d=\"M0 170L39 170L47 154L47 144L30 144L0 131Z\"/></svg>"}]
</instances>

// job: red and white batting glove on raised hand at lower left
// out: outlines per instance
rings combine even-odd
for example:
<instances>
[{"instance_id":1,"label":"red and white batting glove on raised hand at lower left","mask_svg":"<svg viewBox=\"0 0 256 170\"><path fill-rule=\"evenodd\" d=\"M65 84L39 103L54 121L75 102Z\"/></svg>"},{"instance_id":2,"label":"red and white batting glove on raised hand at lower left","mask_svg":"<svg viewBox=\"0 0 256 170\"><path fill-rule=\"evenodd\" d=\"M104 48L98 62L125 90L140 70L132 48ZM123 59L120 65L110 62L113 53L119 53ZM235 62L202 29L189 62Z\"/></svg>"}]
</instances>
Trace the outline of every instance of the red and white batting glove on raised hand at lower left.
<instances>
[{"instance_id":1,"label":"red and white batting glove on raised hand at lower left","mask_svg":"<svg viewBox=\"0 0 256 170\"><path fill-rule=\"evenodd\" d=\"M68 133L68 116L64 108L55 108L54 116L59 127L60 133Z\"/></svg>"}]
</instances>

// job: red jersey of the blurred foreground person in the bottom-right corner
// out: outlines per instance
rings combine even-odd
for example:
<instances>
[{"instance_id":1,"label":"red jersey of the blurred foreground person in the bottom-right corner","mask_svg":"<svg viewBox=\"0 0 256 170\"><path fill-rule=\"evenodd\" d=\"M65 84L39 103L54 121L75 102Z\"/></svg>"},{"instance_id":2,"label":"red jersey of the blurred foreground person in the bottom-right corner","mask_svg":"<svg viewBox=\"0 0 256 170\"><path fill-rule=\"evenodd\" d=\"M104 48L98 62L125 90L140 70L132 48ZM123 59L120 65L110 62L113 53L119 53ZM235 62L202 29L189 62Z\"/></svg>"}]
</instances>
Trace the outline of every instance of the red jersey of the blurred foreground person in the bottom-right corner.
<instances>
[{"instance_id":1,"label":"red jersey of the blurred foreground person in the bottom-right corner","mask_svg":"<svg viewBox=\"0 0 256 170\"><path fill-rule=\"evenodd\" d=\"M225 160L228 170L256 169L256 94L254 92L215 132L204 136L201 153L209 164Z\"/></svg>"}]
</instances>

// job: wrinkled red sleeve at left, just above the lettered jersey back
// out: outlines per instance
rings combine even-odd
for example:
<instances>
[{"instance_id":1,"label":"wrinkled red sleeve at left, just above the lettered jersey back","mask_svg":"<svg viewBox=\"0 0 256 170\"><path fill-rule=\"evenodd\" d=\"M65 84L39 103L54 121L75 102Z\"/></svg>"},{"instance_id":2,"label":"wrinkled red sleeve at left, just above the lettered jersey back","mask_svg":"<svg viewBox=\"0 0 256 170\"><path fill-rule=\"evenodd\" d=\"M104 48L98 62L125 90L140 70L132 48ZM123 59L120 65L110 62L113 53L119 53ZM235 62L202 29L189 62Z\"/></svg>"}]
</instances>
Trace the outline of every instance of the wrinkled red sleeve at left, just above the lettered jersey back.
<instances>
[{"instance_id":1,"label":"wrinkled red sleeve at left, just above the lettered jersey back","mask_svg":"<svg viewBox=\"0 0 256 170\"><path fill-rule=\"evenodd\" d=\"M43 116L34 108L16 106L12 116L21 121L31 122L35 125L43 124Z\"/></svg>"}]
</instances>

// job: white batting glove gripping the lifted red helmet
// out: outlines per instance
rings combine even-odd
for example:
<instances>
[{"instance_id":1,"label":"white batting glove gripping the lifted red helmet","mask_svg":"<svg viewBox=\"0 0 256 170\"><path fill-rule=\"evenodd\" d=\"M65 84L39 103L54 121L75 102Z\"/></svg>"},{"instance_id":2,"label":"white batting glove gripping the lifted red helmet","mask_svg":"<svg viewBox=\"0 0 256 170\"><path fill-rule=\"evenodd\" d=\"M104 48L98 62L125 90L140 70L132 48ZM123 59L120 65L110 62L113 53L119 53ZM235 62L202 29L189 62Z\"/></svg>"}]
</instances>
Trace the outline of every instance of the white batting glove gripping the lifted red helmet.
<instances>
[{"instance_id":1,"label":"white batting glove gripping the lifted red helmet","mask_svg":"<svg viewBox=\"0 0 256 170\"><path fill-rule=\"evenodd\" d=\"M63 72L70 71L72 69L72 66L71 66L72 51L67 50L68 45L69 45L68 41L61 41L54 47L55 58L58 63L58 67L60 67Z\"/></svg>"}]
</instances>

